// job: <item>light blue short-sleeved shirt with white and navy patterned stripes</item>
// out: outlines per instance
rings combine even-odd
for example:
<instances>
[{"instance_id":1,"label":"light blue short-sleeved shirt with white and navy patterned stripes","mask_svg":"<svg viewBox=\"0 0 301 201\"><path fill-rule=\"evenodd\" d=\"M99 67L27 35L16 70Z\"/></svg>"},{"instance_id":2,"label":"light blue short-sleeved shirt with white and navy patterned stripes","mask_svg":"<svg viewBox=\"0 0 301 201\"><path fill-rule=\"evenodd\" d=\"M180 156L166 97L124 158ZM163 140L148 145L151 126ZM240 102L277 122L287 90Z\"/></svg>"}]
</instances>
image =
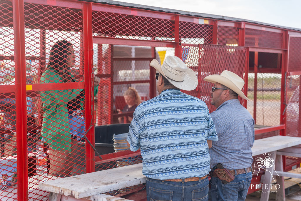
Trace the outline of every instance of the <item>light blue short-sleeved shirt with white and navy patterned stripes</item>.
<instances>
[{"instance_id":1,"label":"light blue short-sleeved shirt with white and navy patterned stripes","mask_svg":"<svg viewBox=\"0 0 301 201\"><path fill-rule=\"evenodd\" d=\"M132 151L141 149L142 174L160 180L208 174L206 140L218 140L208 107L176 89L138 105L127 137Z\"/></svg>"}]
</instances>

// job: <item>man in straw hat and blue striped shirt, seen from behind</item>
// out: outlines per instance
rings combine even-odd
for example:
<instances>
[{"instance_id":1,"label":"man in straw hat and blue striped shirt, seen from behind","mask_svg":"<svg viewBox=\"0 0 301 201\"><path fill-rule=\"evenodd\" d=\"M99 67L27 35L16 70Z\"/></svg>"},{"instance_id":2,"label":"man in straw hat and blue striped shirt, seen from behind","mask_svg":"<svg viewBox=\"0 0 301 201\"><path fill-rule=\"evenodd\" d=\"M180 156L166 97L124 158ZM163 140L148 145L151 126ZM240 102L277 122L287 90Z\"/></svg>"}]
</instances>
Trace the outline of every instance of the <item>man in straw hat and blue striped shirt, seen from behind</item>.
<instances>
[{"instance_id":1,"label":"man in straw hat and blue striped shirt, seen from behind","mask_svg":"<svg viewBox=\"0 0 301 201\"><path fill-rule=\"evenodd\" d=\"M160 95L138 105L127 137L141 149L147 200L208 200L208 150L218 137L206 104L180 91L194 90L197 76L178 57L151 66Z\"/></svg>"}]
</instances>

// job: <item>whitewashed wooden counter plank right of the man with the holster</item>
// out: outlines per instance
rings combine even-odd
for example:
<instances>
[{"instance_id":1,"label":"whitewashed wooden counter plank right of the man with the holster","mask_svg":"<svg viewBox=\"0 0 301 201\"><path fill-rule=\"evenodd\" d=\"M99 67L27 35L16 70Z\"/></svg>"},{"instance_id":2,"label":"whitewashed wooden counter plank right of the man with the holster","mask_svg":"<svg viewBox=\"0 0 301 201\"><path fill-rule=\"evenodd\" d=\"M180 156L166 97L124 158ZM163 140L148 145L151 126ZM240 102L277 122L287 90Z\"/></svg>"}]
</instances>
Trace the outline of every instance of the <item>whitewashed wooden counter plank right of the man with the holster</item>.
<instances>
[{"instance_id":1,"label":"whitewashed wooden counter plank right of the man with the holster","mask_svg":"<svg viewBox=\"0 0 301 201\"><path fill-rule=\"evenodd\" d=\"M301 137L290 136L272 136L259 140L255 140L252 147L253 156L263 153L273 152L279 149L284 149L291 146L301 144Z\"/></svg>"}]
</instances>

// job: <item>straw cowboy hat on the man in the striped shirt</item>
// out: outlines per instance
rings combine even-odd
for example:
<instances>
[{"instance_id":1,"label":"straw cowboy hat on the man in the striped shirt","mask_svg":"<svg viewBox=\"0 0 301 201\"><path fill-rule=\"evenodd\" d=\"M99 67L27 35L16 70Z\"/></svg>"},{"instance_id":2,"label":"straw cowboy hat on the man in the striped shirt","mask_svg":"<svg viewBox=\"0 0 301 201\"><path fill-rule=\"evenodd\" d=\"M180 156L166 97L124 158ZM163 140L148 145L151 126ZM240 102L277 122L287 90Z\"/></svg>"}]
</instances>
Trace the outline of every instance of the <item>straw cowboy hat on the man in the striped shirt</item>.
<instances>
[{"instance_id":1,"label":"straw cowboy hat on the man in the striped shirt","mask_svg":"<svg viewBox=\"0 0 301 201\"><path fill-rule=\"evenodd\" d=\"M197 87L197 75L178 57L167 56L162 66L153 59L150 65L179 89L191 91Z\"/></svg>"}]
</instances>

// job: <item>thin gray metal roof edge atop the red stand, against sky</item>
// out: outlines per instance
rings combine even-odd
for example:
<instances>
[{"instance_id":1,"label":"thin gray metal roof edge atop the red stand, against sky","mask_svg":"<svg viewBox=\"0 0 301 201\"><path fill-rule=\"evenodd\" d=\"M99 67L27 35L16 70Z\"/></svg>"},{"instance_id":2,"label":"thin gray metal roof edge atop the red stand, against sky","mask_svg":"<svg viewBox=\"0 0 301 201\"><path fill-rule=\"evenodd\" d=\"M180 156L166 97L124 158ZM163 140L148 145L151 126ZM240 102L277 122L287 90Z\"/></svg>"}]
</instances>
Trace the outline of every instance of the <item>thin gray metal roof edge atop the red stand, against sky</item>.
<instances>
[{"instance_id":1,"label":"thin gray metal roof edge atop the red stand, against sky","mask_svg":"<svg viewBox=\"0 0 301 201\"><path fill-rule=\"evenodd\" d=\"M240 19L240 18L235 18L235 17L227 17L227 16L222 16L222 15L213 15L213 14L206 14L206 13L194 13L194 12L188 12L188 11L180 11L180 10L174 10L174 9L169 9L169 8L160 8L160 7L140 5L140 4L132 4L132 3L126 3L126 2L118 2L118 1L111 1L111 0L79 0L79 1L110 4L110 5L124 6L124 7L130 7L130 8L139 8L139 9L144 9L144 10L151 10L151 11L159 11L159 12L166 12L166 13L188 15L188 16L194 16L194 17L211 18L211 19L217 19L217 20L227 20L227 21L236 21L236 22L249 22L249 23L261 24L261 25L265 25L265 26L271 26L271 27L278 27L278 28L283 28L283 29L301 31L301 29L298 29L298 28L284 27L284 26L279 26L279 25L275 25L275 24L268 24L268 23L264 23L264 22L253 21L253 20L245 20L245 19Z\"/></svg>"}]
</instances>

